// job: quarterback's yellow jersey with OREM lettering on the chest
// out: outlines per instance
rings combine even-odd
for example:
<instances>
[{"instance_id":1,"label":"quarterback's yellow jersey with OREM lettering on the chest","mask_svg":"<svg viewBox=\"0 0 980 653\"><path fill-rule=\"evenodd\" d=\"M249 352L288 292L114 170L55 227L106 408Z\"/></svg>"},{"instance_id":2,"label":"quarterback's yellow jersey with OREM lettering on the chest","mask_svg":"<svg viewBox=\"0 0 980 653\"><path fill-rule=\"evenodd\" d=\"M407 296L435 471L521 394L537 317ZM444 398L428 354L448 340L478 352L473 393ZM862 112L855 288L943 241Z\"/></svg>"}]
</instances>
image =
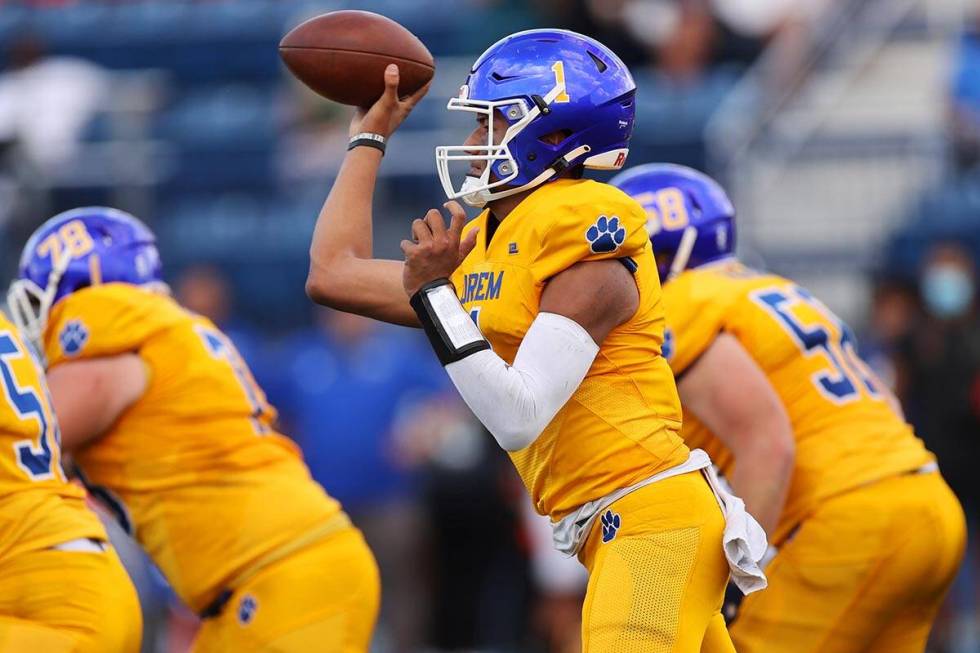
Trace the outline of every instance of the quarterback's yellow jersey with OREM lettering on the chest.
<instances>
[{"instance_id":1,"label":"quarterback's yellow jersey with OREM lettering on the chest","mask_svg":"<svg viewBox=\"0 0 980 653\"><path fill-rule=\"evenodd\" d=\"M561 519L685 461L677 389L660 353L664 309L642 207L607 184L559 180L525 198L488 243L489 215L467 225L480 233L452 281L508 364L559 272L580 261L620 259L635 268L639 289L636 314L603 341L572 398L537 440L510 453L537 511Z\"/></svg>"}]
</instances>

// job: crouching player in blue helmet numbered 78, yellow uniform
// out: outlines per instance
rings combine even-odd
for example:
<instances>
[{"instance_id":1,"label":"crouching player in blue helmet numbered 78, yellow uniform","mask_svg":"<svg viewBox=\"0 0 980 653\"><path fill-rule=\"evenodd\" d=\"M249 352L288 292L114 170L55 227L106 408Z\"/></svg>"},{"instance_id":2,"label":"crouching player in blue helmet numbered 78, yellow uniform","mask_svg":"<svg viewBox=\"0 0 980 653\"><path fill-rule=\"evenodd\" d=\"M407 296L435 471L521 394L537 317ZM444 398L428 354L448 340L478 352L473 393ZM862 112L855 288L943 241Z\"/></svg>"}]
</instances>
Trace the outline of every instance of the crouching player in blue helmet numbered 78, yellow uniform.
<instances>
[{"instance_id":1,"label":"crouching player in blue helmet numbered 78, yellow uniform","mask_svg":"<svg viewBox=\"0 0 980 653\"><path fill-rule=\"evenodd\" d=\"M51 218L9 303L86 483L204 620L195 651L367 650L371 552L234 345L170 297L143 223L101 207Z\"/></svg>"}]
</instances>

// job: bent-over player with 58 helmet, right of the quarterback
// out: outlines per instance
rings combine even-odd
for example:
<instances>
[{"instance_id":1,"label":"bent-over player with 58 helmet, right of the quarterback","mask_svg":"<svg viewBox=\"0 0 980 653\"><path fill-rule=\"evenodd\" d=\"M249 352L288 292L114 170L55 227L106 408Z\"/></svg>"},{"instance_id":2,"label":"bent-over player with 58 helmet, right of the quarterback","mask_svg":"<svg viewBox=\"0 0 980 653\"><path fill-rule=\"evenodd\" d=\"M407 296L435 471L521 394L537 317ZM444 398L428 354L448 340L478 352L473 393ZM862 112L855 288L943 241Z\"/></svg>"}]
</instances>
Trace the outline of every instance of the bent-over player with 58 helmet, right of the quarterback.
<instances>
[{"instance_id":1,"label":"bent-over player with 58 helmet, right of the quarterback","mask_svg":"<svg viewBox=\"0 0 980 653\"><path fill-rule=\"evenodd\" d=\"M963 512L854 335L806 289L735 258L735 211L709 177L651 164L611 183L649 215L684 440L778 547L769 588L732 625L736 648L921 653ZM759 396L768 408L748 410Z\"/></svg>"}]
</instances>

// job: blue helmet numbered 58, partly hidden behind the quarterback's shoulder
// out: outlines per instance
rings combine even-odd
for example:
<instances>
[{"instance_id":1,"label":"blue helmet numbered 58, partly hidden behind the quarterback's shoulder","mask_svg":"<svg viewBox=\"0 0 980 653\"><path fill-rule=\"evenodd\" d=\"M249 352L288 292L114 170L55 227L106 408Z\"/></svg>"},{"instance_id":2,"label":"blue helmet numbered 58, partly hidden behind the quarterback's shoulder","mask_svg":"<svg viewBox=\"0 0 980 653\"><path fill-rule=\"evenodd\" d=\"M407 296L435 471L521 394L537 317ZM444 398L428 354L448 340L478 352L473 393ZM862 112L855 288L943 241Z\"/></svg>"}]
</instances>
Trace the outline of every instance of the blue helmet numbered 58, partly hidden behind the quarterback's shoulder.
<instances>
[{"instance_id":1,"label":"blue helmet numbered 58, partly hidden behind the quarterback's shoulder","mask_svg":"<svg viewBox=\"0 0 980 653\"><path fill-rule=\"evenodd\" d=\"M735 251L735 207L708 175L686 166L648 163L609 183L646 209L662 280Z\"/></svg>"}]
</instances>

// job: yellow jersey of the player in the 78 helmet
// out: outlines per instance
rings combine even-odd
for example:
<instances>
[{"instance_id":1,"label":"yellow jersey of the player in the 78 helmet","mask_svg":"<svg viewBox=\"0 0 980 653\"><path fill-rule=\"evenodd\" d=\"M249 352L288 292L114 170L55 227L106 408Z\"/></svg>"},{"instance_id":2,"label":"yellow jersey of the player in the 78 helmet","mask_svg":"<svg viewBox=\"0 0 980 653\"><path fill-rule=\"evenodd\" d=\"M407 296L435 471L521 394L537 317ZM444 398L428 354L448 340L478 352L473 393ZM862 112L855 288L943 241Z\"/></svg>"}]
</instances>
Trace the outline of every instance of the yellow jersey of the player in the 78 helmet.
<instances>
[{"instance_id":1,"label":"yellow jersey of the player in the 78 helmet","mask_svg":"<svg viewBox=\"0 0 980 653\"><path fill-rule=\"evenodd\" d=\"M80 290L52 309L44 348L52 368L125 352L146 365L143 396L75 460L195 611L343 517L232 343L169 295Z\"/></svg>"}]
</instances>

